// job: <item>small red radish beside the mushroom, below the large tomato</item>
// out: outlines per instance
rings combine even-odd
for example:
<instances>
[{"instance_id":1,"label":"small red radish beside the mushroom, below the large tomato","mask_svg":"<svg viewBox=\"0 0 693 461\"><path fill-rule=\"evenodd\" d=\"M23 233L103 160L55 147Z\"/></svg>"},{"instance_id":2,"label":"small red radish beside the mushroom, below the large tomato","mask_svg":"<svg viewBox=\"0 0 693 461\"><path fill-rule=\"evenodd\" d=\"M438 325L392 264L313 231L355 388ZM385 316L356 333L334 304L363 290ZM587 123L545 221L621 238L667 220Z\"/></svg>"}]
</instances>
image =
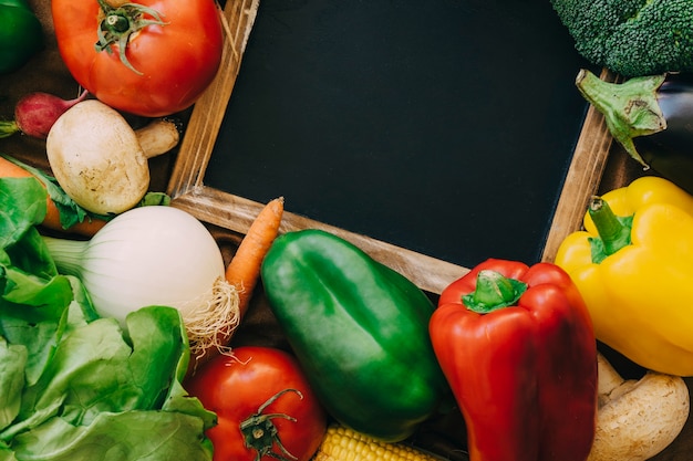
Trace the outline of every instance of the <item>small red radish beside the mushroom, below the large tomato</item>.
<instances>
[{"instance_id":1,"label":"small red radish beside the mushroom, below the large tomato","mask_svg":"<svg viewBox=\"0 0 693 461\"><path fill-rule=\"evenodd\" d=\"M27 94L14 106L14 121L0 122L0 138L21 132L38 139L45 139L58 117L84 101L87 94L89 92L84 90L74 99L63 99L43 92Z\"/></svg>"}]
</instances>

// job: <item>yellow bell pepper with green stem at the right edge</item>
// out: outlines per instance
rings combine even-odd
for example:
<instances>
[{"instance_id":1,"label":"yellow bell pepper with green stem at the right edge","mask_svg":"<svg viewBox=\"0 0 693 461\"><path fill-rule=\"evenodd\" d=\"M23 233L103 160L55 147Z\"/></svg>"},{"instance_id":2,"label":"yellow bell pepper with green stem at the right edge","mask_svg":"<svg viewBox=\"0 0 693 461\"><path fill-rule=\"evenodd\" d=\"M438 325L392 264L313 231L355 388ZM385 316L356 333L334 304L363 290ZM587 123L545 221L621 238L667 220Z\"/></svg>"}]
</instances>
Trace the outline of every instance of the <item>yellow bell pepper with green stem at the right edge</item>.
<instances>
[{"instance_id":1,"label":"yellow bell pepper with green stem at the right edge","mask_svg":"<svg viewBox=\"0 0 693 461\"><path fill-rule=\"evenodd\" d=\"M658 177L593 198L560 244L597 339L634 363L693 376L693 197Z\"/></svg>"}]
</instances>

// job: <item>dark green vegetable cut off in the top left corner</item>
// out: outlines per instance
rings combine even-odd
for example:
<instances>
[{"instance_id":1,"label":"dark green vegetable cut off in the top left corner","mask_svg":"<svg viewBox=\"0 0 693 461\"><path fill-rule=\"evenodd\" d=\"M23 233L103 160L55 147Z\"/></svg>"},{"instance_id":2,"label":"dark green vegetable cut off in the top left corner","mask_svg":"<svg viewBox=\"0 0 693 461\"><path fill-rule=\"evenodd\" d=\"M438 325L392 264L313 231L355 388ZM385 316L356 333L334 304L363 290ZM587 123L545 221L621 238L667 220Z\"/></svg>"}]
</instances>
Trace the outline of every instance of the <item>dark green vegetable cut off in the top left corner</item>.
<instances>
[{"instance_id":1,"label":"dark green vegetable cut off in the top left corner","mask_svg":"<svg viewBox=\"0 0 693 461\"><path fill-rule=\"evenodd\" d=\"M0 74L17 71L43 46L43 27L27 0L0 0Z\"/></svg>"}]
</instances>

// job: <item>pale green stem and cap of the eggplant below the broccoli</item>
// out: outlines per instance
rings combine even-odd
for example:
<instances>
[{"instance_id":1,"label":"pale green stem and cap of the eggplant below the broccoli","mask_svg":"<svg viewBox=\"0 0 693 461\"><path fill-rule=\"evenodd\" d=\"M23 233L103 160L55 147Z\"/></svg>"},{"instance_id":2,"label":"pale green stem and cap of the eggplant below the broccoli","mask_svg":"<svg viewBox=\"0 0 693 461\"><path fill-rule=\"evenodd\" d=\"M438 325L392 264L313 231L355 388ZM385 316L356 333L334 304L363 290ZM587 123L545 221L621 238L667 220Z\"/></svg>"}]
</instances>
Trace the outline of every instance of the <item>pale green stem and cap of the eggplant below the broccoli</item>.
<instances>
[{"instance_id":1,"label":"pale green stem and cap of the eggplant below the broccoli","mask_svg":"<svg viewBox=\"0 0 693 461\"><path fill-rule=\"evenodd\" d=\"M656 91L665 75L633 77L623 83L604 82L585 69L576 77L582 96L604 116L611 135L643 166L633 138L666 129L666 118L660 108Z\"/></svg>"}]
</instances>

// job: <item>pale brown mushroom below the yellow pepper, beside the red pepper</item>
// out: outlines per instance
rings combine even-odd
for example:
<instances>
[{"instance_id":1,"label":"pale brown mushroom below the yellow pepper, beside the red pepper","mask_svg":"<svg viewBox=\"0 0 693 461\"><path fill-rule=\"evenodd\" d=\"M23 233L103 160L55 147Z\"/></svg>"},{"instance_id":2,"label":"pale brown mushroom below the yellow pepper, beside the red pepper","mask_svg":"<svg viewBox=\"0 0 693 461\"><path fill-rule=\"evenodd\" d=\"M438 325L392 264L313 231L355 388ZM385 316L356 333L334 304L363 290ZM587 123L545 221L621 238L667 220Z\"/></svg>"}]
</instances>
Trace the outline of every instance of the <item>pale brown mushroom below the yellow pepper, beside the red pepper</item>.
<instances>
[{"instance_id":1,"label":"pale brown mushroom below the yellow pepper, beside the red pepper","mask_svg":"<svg viewBox=\"0 0 693 461\"><path fill-rule=\"evenodd\" d=\"M644 461L660 453L689 417L685 381L654 371L624 380L603 356L598 360L599 409L588 461Z\"/></svg>"}]
</instances>

